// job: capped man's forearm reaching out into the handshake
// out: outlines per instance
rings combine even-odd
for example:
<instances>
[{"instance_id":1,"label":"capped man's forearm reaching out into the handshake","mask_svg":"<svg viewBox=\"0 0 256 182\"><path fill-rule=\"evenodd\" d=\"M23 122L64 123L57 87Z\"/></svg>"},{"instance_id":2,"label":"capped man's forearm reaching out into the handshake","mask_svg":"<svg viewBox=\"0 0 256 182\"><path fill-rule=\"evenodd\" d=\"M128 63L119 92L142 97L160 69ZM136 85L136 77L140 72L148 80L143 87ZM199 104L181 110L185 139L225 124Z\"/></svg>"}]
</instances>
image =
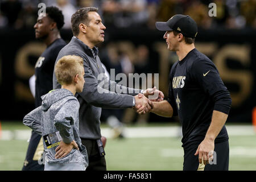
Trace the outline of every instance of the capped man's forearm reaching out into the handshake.
<instances>
[{"instance_id":1,"label":"capped man's forearm reaching out into the handshake","mask_svg":"<svg viewBox=\"0 0 256 182\"><path fill-rule=\"evenodd\" d=\"M172 106L167 101L153 102L154 109L150 110L151 113L155 113L162 117L170 118L174 114Z\"/></svg>"}]
</instances>

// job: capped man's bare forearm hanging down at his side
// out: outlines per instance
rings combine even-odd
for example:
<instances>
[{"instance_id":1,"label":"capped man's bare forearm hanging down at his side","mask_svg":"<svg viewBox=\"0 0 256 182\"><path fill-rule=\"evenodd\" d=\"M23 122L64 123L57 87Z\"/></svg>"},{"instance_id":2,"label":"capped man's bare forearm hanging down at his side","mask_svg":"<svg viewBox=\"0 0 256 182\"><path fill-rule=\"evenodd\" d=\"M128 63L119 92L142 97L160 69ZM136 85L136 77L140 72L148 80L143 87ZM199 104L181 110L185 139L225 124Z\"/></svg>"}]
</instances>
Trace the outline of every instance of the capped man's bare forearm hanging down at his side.
<instances>
[{"instance_id":1,"label":"capped man's bare forearm hanging down at his side","mask_svg":"<svg viewBox=\"0 0 256 182\"><path fill-rule=\"evenodd\" d=\"M212 122L210 123L205 139L215 140L215 138L220 133L222 127L224 126L228 114L221 113L220 111L213 110Z\"/></svg>"}]
</instances>

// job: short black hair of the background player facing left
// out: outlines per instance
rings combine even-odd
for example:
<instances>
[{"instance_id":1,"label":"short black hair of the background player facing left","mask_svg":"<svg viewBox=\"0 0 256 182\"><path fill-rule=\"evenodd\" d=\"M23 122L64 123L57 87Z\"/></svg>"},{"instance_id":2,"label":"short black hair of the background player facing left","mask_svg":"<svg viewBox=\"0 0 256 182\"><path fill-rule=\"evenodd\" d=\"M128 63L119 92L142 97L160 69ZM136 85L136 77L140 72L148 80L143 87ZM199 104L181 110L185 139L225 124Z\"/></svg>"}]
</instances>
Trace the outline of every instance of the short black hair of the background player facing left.
<instances>
[{"instance_id":1,"label":"short black hair of the background player facing left","mask_svg":"<svg viewBox=\"0 0 256 182\"><path fill-rule=\"evenodd\" d=\"M64 25L64 16L62 14L62 11L59 10L55 6L49 6L46 7L46 14L49 18L53 20L53 22L56 22L58 30L63 27Z\"/></svg>"}]
</instances>

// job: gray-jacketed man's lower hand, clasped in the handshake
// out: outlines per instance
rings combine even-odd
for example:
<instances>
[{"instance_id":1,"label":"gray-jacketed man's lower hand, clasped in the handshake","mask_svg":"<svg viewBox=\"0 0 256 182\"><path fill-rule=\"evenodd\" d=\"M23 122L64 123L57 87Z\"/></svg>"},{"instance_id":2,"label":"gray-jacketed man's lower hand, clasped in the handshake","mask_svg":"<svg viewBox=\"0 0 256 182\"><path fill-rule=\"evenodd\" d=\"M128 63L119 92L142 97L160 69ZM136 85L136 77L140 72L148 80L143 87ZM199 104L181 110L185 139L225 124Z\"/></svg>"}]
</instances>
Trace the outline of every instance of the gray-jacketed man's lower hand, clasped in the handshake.
<instances>
[{"instance_id":1,"label":"gray-jacketed man's lower hand, clasped in the handshake","mask_svg":"<svg viewBox=\"0 0 256 182\"><path fill-rule=\"evenodd\" d=\"M139 114L148 113L153 107L153 102L148 100L147 97L143 96L143 94L139 93L137 96L134 96L135 98L135 107L134 109ZM139 112L138 112L139 110Z\"/></svg>"}]
</instances>

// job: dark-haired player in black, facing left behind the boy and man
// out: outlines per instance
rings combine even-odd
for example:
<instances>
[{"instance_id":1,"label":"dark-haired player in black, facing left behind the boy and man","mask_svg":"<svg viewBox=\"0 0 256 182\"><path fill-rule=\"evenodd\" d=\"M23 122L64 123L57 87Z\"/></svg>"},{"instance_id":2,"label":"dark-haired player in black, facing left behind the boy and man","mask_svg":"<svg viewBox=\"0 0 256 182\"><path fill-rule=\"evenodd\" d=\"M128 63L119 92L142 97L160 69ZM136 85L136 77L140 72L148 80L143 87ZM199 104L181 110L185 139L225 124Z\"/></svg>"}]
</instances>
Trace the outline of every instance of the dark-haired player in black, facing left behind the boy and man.
<instances>
[{"instance_id":1,"label":"dark-haired player in black, facing left behind the boy and man","mask_svg":"<svg viewBox=\"0 0 256 182\"><path fill-rule=\"evenodd\" d=\"M52 75L60 49L66 43L60 37L60 28L64 25L64 16L57 7L47 7L46 14L41 13L34 26L36 39L42 40L47 48L35 65L35 107L42 105L41 96L52 90ZM43 171L44 165L39 164L42 158L42 136L32 131L23 171Z\"/></svg>"}]
</instances>

